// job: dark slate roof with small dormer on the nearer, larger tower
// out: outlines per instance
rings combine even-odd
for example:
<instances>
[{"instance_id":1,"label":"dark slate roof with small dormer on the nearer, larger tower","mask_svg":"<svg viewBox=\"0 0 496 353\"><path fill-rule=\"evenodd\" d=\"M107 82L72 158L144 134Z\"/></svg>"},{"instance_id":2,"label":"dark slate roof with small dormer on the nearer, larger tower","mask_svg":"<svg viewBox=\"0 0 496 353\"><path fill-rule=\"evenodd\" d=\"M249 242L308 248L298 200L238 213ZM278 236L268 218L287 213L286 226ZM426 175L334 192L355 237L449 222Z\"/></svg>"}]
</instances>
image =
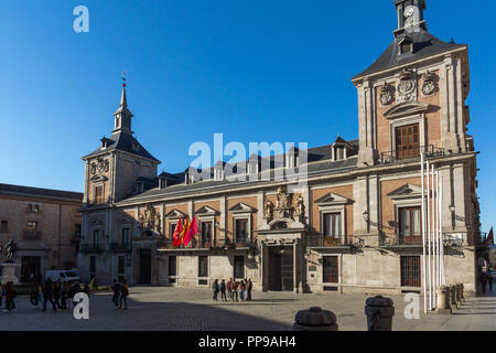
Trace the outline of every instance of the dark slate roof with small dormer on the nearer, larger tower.
<instances>
[{"instance_id":1,"label":"dark slate roof with small dormer on the nearer, larger tower","mask_svg":"<svg viewBox=\"0 0 496 353\"><path fill-rule=\"evenodd\" d=\"M428 57L465 46L465 44L443 42L423 29L420 29L419 32L408 33L408 36L413 41L413 53L399 55L398 43L403 36L398 35L388 49L379 56L379 58L374 62L374 64L358 75L354 76L352 79L367 76L390 67L408 64L422 57Z\"/></svg>"}]
</instances>

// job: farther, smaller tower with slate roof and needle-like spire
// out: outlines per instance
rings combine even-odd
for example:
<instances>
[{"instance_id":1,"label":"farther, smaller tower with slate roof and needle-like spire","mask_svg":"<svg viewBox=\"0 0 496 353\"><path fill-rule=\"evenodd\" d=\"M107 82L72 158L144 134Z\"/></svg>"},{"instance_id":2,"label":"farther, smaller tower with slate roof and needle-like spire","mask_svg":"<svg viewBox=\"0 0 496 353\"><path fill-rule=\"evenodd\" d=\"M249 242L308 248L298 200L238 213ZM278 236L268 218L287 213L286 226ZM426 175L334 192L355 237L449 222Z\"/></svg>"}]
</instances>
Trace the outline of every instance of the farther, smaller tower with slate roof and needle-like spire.
<instances>
[{"instance_id":1,"label":"farther, smaller tower with slate roof and needle-like spire","mask_svg":"<svg viewBox=\"0 0 496 353\"><path fill-rule=\"evenodd\" d=\"M114 113L111 136L104 137L98 149L83 157L86 163L85 205L111 204L155 186L160 161L134 138L132 117L123 83L120 104Z\"/></svg>"}]
</instances>

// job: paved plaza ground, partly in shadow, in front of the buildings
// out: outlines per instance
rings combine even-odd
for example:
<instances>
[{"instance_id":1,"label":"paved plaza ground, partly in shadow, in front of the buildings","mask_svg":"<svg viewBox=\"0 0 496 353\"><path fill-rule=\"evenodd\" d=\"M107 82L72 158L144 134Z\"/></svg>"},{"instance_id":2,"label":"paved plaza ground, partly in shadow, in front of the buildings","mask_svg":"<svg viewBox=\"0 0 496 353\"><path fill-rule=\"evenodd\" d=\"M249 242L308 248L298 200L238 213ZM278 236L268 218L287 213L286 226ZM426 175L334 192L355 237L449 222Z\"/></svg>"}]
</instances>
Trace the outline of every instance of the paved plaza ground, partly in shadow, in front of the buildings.
<instances>
[{"instance_id":1,"label":"paved plaza ground, partly in shadow, in front of the buildings","mask_svg":"<svg viewBox=\"0 0 496 353\"><path fill-rule=\"evenodd\" d=\"M116 310L111 293L90 296L89 320L76 320L72 310L41 312L32 309L28 297L17 298L14 313L0 312L0 330L291 330L294 314L309 307L321 307L337 315L341 331L367 330L365 295L296 295L292 292L254 292L251 302L213 302L206 289L133 287L129 310ZM452 315L423 314L419 320L403 315L401 296L395 302L395 331L496 331L496 288L485 297L467 298ZM421 308L423 304L421 303Z\"/></svg>"}]
</instances>

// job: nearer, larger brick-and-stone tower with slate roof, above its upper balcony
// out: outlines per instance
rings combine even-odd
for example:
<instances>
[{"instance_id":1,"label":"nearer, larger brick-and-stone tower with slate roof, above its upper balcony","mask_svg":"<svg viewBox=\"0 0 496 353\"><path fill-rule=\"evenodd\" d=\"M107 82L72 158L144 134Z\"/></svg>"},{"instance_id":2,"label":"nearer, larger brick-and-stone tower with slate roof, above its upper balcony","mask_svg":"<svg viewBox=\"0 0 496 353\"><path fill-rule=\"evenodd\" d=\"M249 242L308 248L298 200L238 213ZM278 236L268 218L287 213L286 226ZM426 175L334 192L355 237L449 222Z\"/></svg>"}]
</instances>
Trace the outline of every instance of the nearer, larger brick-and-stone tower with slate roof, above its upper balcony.
<instances>
[{"instance_id":1,"label":"nearer, larger brick-and-stone tower with slate roof, above its upper balcony","mask_svg":"<svg viewBox=\"0 0 496 353\"><path fill-rule=\"evenodd\" d=\"M395 6L392 43L352 78L358 93L362 167L418 157L421 150L461 153L472 148L467 45L428 32L424 0L397 0Z\"/></svg>"}]
</instances>

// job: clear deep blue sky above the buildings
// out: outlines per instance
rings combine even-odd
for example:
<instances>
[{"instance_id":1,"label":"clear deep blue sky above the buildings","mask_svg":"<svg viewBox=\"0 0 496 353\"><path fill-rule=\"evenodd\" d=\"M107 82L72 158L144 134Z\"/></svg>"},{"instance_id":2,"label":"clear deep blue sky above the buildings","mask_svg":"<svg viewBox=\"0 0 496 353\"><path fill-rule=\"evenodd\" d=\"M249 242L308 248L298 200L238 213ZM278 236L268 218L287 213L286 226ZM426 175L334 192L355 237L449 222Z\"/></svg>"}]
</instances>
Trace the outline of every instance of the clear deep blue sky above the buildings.
<instances>
[{"instance_id":1,"label":"clear deep blue sky above the buildings","mask_svg":"<svg viewBox=\"0 0 496 353\"><path fill-rule=\"evenodd\" d=\"M449 6L446 6L449 3ZM73 10L89 9L89 33ZM483 231L495 221L494 1L427 0L431 33L470 44L467 104ZM184 170L194 141L358 137L349 78L392 41L393 0L51 0L0 7L0 182L82 191L80 157L110 135L120 77L138 139Z\"/></svg>"}]
</instances>

